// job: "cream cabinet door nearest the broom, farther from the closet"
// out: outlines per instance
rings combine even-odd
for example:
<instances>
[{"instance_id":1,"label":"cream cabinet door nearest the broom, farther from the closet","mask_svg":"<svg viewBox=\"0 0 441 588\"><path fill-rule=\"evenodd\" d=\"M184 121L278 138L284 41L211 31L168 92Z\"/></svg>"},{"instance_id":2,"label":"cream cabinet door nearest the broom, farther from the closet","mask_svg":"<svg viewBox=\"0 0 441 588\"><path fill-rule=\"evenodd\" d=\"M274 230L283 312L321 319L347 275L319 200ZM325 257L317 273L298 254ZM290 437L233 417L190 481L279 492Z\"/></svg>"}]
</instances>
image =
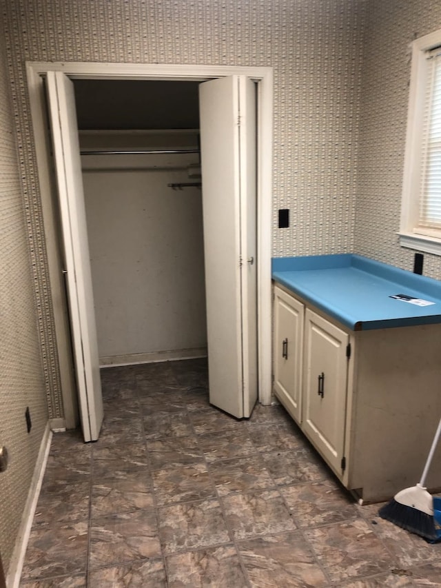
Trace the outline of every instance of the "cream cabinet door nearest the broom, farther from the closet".
<instances>
[{"instance_id":1,"label":"cream cabinet door nearest the broom, farther from the closet","mask_svg":"<svg viewBox=\"0 0 441 588\"><path fill-rule=\"evenodd\" d=\"M337 474L345 446L349 335L305 312L302 429Z\"/></svg>"}]
</instances>

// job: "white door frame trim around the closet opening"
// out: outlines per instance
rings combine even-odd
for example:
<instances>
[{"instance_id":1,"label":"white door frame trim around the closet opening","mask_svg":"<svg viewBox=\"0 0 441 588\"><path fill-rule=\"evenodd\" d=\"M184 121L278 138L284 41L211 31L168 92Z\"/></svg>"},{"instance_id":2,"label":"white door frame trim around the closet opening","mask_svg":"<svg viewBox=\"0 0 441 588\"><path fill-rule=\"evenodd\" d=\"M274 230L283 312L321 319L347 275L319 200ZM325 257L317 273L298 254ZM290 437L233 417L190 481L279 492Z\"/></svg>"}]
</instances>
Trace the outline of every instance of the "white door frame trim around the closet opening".
<instances>
[{"instance_id":1,"label":"white door frame trim around the closet opening","mask_svg":"<svg viewBox=\"0 0 441 588\"><path fill-rule=\"evenodd\" d=\"M259 400L271 402L271 190L273 141L273 70L272 68L239 67L229 65L156 65L143 63L82 63L35 62L26 63L32 127L39 172L41 205L45 224L46 246L52 300L54 301L55 331L61 367L61 392L65 410L65 426L74 426L75 389L72 366L66 358L70 354L69 336L65 332L65 308L57 304L63 287L61 279L59 241L57 239L57 211L54 210L53 181L50 167L50 141L45 117L43 79L48 71L61 71L72 79L125 79L205 81L212 78L245 75L258 82L257 114L257 282L258 282L258 384ZM61 423L54 423L60 425Z\"/></svg>"}]
</instances>

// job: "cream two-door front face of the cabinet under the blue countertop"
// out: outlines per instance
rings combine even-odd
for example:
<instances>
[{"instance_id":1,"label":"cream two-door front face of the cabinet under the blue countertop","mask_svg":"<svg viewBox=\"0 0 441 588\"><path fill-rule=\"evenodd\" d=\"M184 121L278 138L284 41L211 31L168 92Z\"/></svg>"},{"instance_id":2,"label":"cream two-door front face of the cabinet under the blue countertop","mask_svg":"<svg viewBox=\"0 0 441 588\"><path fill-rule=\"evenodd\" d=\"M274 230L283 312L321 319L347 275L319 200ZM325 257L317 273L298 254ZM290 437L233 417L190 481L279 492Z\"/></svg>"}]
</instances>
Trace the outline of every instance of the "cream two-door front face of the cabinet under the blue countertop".
<instances>
[{"instance_id":1,"label":"cream two-door front face of the cabinet under the blue countertop","mask_svg":"<svg viewBox=\"0 0 441 588\"><path fill-rule=\"evenodd\" d=\"M345 460L349 334L274 287L274 392L327 463Z\"/></svg>"}]
</instances>

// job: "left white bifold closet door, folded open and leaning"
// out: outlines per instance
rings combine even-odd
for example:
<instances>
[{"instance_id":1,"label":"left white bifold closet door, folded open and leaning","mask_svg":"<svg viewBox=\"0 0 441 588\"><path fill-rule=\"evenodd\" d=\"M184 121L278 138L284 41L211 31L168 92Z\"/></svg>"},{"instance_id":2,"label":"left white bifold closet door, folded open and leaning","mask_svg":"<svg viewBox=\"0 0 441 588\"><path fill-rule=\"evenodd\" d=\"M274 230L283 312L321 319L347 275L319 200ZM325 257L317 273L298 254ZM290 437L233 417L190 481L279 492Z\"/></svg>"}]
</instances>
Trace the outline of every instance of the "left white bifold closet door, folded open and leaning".
<instances>
[{"instance_id":1,"label":"left white bifold closet door, folded open and leaning","mask_svg":"<svg viewBox=\"0 0 441 588\"><path fill-rule=\"evenodd\" d=\"M103 422L103 398L74 85L63 72L48 72L46 81L81 425L84 440L94 441Z\"/></svg>"}]
</instances>

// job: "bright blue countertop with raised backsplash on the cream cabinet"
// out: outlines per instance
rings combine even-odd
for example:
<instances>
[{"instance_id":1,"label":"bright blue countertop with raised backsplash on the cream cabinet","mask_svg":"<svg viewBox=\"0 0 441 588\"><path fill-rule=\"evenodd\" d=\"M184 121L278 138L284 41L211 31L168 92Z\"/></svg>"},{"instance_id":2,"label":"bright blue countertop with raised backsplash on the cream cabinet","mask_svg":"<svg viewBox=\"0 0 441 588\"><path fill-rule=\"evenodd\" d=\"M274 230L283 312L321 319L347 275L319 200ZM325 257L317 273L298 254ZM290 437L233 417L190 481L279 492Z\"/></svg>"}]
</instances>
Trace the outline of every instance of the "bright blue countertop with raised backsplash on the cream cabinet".
<instances>
[{"instance_id":1,"label":"bright blue countertop with raised backsplash on the cream cabinet","mask_svg":"<svg viewBox=\"0 0 441 588\"><path fill-rule=\"evenodd\" d=\"M273 258L272 278L351 330L441 323L440 281L359 255Z\"/></svg>"}]
</instances>

